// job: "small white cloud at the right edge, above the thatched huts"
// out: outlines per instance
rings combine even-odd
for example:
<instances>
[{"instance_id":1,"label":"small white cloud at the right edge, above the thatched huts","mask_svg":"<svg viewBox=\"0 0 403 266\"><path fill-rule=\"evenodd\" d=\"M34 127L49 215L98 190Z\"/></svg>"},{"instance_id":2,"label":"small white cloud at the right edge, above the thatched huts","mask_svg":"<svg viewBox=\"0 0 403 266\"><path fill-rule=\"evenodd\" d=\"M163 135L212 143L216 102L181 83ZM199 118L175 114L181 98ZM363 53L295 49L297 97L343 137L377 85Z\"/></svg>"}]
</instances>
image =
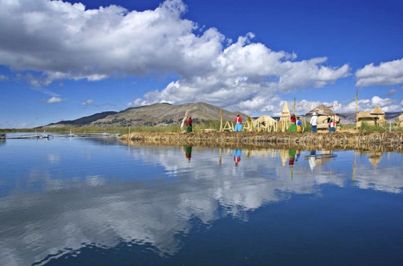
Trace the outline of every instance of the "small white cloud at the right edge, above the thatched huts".
<instances>
[{"instance_id":1,"label":"small white cloud at the right edge, above the thatched huts","mask_svg":"<svg viewBox=\"0 0 403 266\"><path fill-rule=\"evenodd\" d=\"M357 86L393 85L403 83L403 58L366 65L356 72Z\"/></svg>"}]
</instances>

